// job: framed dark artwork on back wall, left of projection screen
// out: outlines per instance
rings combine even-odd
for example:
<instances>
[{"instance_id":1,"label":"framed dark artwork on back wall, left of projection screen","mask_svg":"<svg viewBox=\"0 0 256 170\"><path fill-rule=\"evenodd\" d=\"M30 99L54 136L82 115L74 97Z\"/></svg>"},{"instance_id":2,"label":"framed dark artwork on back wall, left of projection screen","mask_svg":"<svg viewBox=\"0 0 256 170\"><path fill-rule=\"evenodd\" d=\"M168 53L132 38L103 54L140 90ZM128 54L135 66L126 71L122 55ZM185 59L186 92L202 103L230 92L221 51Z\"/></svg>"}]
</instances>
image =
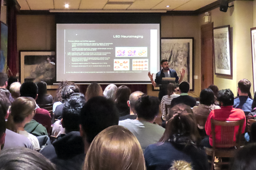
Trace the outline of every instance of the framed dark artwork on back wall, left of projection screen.
<instances>
[{"instance_id":1,"label":"framed dark artwork on back wall, left of projection screen","mask_svg":"<svg viewBox=\"0 0 256 170\"><path fill-rule=\"evenodd\" d=\"M20 51L20 81L45 81L47 89L52 86L55 78L55 52ZM57 86L58 87L58 86Z\"/></svg>"}]
</instances>

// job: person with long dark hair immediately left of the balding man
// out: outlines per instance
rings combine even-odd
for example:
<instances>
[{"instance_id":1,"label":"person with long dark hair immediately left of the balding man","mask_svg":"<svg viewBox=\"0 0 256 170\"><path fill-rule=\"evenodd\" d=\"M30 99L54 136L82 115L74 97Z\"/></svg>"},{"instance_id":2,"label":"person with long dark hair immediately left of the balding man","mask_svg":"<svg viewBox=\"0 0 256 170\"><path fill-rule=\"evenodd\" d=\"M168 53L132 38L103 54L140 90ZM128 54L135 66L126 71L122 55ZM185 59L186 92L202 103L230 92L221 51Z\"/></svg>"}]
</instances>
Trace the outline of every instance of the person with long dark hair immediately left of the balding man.
<instances>
[{"instance_id":1,"label":"person with long dark hair immediately left of the balding man","mask_svg":"<svg viewBox=\"0 0 256 170\"><path fill-rule=\"evenodd\" d=\"M131 95L129 87L122 85L119 86L115 94L115 105L118 110L119 116L125 116L130 114L130 108L127 105L127 101Z\"/></svg>"}]
</instances>

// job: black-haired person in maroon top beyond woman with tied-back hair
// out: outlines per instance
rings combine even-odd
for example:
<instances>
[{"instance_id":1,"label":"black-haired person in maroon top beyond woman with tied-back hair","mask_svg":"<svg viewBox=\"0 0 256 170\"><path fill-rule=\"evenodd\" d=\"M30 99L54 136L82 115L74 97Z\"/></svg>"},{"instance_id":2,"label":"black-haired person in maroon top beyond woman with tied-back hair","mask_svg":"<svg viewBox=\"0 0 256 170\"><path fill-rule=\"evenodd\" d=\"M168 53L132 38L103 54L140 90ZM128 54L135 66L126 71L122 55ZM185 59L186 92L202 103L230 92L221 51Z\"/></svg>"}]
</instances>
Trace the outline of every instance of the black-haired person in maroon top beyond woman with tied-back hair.
<instances>
[{"instance_id":1,"label":"black-haired person in maroon top beyond woman with tied-back hair","mask_svg":"<svg viewBox=\"0 0 256 170\"><path fill-rule=\"evenodd\" d=\"M33 99L37 99L37 86L34 82L24 82L21 84L20 87L20 97L31 97ZM46 130L47 130L47 134L51 133L51 125L52 125L52 118L50 113L43 108L39 108L39 106L36 104L36 110L35 110L36 114L34 116L34 120L29 122L28 124L26 124L26 131L34 131L35 126L38 126L38 123L42 124ZM38 123L37 123L38 122ZM29 127L29 128L28 128ZM33 128L33 129L30 129ZM44 130L43 129L37 129L37 130ZM43 132L36 132L38 134L41 134Z\"/></svg>"}]
</instances>

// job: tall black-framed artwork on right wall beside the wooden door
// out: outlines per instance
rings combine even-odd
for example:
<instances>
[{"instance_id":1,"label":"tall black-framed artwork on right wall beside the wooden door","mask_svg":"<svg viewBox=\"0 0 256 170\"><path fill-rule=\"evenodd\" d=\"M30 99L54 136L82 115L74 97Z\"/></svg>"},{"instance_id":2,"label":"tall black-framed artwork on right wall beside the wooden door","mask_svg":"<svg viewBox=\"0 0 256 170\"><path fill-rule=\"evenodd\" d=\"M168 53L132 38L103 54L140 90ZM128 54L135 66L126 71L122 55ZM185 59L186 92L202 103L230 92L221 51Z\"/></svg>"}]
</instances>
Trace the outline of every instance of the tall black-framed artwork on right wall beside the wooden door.
<instances>
[{"instance_id":1,"label":"tall black-framed artwork on right wall beside the wooden door","mask_svg":"<svg viewBox=\"0 0 256 170\"><path fill-rule=\"evenodd\" d=\"M213 28L213 41L215 74L232 77L233 65L229 25Z\"/></svg>"}]
</instances>

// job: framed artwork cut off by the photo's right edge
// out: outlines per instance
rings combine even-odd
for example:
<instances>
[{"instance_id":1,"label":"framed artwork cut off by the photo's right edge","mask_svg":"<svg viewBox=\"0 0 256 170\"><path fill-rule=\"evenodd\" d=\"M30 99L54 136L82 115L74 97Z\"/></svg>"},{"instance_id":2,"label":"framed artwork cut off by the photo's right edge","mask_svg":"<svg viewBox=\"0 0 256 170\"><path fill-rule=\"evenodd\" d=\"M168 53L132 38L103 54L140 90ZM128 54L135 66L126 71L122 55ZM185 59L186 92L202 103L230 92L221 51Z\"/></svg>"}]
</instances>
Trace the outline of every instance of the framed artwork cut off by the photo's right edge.
<instances>
[{"instance_id":1,"label":"framed artwork cut off by the photo's right edge","mask_svg":"<svg viewBox=\"0 0 256 170\"><path fill-rule=\"evenodd\" d=\"M253 91L256 90L256 27L251 28Z\"/></svg>"}]
</instances>

